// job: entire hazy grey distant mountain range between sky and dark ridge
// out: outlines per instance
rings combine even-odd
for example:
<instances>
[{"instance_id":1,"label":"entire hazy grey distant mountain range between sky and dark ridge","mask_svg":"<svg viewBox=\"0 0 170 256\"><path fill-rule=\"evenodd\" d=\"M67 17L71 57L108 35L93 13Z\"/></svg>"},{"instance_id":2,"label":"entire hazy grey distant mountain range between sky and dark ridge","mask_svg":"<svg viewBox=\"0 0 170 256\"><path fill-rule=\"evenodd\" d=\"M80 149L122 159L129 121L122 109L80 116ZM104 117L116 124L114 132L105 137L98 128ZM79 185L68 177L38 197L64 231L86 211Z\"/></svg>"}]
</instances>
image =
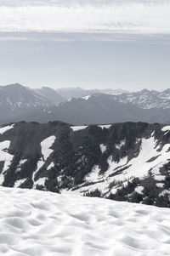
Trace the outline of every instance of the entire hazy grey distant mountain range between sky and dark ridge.
<instances>
[{"instance_id":1,"label":"entire hazy grey distant mountain range between sky and dark ridge","mask_svg":"<svg viewBox=\"0 0 170 256\"><path fill-rule=\"evenodd\" d=\"M69 98L69 100L68 100ZM127 92L113 89L0 87L0 124L50 122L74 125L110 122L170 122L170 89Z\"/></svg>"}]
</instances>

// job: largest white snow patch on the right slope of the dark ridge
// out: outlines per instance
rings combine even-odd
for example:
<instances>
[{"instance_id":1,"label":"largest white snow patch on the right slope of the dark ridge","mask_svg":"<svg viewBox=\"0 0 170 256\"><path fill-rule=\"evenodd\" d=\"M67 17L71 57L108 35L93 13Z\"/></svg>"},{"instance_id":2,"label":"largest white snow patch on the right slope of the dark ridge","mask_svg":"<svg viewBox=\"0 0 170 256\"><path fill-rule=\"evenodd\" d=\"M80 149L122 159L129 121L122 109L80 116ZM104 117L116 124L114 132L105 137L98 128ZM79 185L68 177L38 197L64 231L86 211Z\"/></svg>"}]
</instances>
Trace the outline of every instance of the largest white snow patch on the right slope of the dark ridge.
<instances>
[{"instance_id":1,"label":"largest white snow patch on the right slope of the dark ridge","mask_svg":"<svg viewBox=\"0 0 170 256\"><path fill-rule=\"evenodd\" d=\"M165 180L165 176L160 173L160 168L169 161L170 144L164 145L160 151L160 145L157 145L157 140L153 135L150 138L141 139L139 155L129 161L125 156L119 162L114 162L112 156L109 156L107 159L109 168L103 175L99 175L99 166L94 166L91 174L85 177L83 186L74 191L74 193L83 194L87 191L99 189L103 195L108 196L111 192L116 192L116 188L113 188L112 191L109 189L109 185L112 182L122 181L126 186L127 180L134 177L139 179L147 177L149 171L152 172L157 181ZM124 170L119 172L121 169ZM113 175L114 173L115 175ZM94 184L88 185L87 182L94 182Z\"/></svg>"}]
</instances>

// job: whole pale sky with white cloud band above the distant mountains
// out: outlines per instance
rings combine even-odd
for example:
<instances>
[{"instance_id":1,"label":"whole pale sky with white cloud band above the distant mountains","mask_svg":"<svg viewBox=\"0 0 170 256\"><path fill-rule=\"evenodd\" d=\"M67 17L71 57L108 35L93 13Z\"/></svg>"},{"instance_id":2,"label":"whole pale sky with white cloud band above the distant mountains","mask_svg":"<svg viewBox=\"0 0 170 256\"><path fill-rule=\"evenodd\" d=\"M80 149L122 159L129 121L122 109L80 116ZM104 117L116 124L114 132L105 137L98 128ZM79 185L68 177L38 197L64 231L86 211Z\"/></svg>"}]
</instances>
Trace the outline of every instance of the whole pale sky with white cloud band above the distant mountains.
<instances>
[{"instance_id":1,"label":"whole pale sky with white cloud band above the distant mountains","mask_svg":"<svg viewBox=\"0 0 170 256\"><path fill-rule=\"evenodd\" d=\"M0 0L0 84L170 88L170 0Z\"/></svg>"}]
</instances>

